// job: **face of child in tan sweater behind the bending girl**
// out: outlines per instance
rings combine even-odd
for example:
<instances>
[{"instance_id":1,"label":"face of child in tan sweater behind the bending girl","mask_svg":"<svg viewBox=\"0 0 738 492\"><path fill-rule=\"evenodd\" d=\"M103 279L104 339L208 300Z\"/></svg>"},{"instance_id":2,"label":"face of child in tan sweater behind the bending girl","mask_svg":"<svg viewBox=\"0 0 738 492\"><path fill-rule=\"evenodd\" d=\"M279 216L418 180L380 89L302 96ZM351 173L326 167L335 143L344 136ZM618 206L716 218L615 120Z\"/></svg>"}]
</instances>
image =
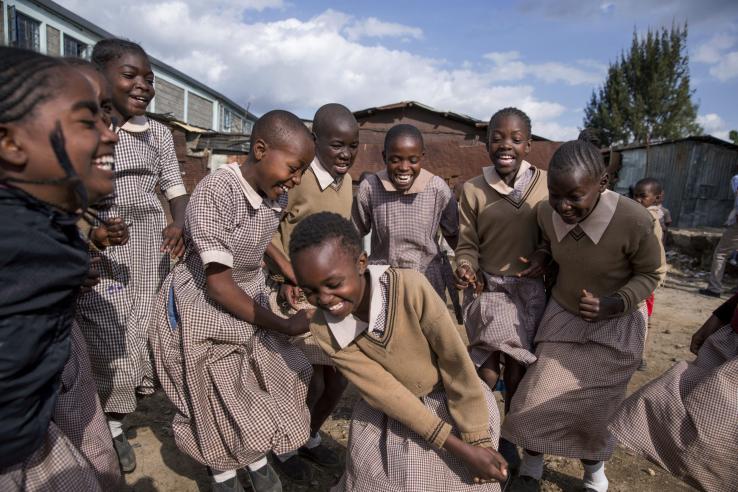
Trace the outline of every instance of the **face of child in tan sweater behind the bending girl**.
<instances>
[{"instance_id":1,"label":"face of child in tan sweater behind the bending girl","mask_svg":"<svg viewBox=\"0 0 738 492\"><path fill-rule=\"evenodd\" d=\"M354 165L359 151L359 125L337 118L315 135L315 153L333 179L344 176Z\"/></svg>"}]
</instances>

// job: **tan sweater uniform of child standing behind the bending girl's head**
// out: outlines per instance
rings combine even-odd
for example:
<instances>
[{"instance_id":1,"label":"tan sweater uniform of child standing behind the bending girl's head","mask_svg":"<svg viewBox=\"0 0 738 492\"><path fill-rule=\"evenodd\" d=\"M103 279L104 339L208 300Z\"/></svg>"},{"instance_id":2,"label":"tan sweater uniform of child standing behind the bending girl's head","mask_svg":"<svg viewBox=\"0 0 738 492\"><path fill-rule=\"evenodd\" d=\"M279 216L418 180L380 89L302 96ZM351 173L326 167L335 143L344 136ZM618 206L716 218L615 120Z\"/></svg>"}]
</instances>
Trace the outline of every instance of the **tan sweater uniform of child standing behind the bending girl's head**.
<instances>
[{"instance_id":1,"label":"tan sweater uniform of child standing behind the bending girl's head","mask_svg":"<svg viewBox=\"0 0 738 492\"><path fill-rule=\"evenodd\" d=\"M290 190L287 208L272 244L289 258L290 238L297 224L318 212L333 212L350 219L353 199L351 176L347 174L336 181L316 157L303 173L300 184ZM280 285L273 282L270 284L272 292L269 305L272 311L283 317L294 315L296 311L289 304L280 305L278 302ZM311 309L313 306L303 299L299 307ZM332 365L330 358L317 346L310 333L292 337L292 342L305 353L311 364Z\"/></svg>"}]
</instances>

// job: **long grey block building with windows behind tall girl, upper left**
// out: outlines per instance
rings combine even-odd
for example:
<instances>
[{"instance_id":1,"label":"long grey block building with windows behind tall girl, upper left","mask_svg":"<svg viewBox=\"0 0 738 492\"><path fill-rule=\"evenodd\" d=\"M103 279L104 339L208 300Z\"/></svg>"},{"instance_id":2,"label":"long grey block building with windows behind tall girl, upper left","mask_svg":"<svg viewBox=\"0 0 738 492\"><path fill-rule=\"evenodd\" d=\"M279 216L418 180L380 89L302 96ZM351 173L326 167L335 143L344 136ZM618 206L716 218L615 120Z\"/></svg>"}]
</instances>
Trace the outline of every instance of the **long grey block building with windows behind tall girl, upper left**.
<instances>
[{"instance_id":1,"label":"long grey block building with windows behind tall girl, upper left","mask_svg":"<svg viewBox=\"0 0 738 492\"><path fill-rule=\"evenodd\" d=\"M0 43L50 56L89 58L95 43L115 35L49 0L0 0ZM256 116L223 94L151 58L156 97L149 111L224 133L250 134Z\"/></svg>"}]
</instances>

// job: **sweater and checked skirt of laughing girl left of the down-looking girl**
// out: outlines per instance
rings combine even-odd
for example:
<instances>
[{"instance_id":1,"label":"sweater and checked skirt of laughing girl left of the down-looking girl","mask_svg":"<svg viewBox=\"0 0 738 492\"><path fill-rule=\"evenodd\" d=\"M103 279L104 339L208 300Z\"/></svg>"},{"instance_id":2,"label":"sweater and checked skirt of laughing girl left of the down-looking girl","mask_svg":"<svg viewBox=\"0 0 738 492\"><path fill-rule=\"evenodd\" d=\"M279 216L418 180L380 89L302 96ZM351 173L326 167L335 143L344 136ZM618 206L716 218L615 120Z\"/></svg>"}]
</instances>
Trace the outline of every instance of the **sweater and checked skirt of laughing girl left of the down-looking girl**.
<instances>
[{"instance_id":1,"label":"sweater and checked skirt of laughing girl left of the down-looking girl","mask_svg":"<svg viewBox=\"0 0 738 492\"><path fill-rule=\"evenodd\" d=\"M494 166L466 182L461 193L457 266L483 277L484 291L464 292L464 326L469 353L481 366L501 351L521 364L535 362L533 338L546 307L540 278L520 278L538 248L537 212L548 199L546 173L527 161L520 164L513 186Z\"/></svg>"}]
</instances>

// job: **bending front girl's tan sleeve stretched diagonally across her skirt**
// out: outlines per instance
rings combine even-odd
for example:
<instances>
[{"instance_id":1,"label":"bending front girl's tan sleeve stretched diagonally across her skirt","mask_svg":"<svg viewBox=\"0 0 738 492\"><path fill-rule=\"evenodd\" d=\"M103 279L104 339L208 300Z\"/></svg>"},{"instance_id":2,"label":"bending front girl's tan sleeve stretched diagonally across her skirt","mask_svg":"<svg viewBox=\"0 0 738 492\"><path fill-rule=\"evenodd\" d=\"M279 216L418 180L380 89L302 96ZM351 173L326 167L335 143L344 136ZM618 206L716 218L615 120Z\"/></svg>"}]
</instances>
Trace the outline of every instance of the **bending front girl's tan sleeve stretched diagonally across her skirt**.
<instances>
[{"instance_id":1,"label":"bending front girl's tan sleeve stretched diagonally across her skirt","mask_svg":"<svg viewBox=\"0 0 738 492\"><path fill-rule=\"evenodd\" d=\"M451 426L430 413L420 399L381 364L370 359L355 343L341 349L325 325L313 324L310 330L318 345L370 406L409 427L431 445L443 446Z\"/></svg>"}]
</instances>

